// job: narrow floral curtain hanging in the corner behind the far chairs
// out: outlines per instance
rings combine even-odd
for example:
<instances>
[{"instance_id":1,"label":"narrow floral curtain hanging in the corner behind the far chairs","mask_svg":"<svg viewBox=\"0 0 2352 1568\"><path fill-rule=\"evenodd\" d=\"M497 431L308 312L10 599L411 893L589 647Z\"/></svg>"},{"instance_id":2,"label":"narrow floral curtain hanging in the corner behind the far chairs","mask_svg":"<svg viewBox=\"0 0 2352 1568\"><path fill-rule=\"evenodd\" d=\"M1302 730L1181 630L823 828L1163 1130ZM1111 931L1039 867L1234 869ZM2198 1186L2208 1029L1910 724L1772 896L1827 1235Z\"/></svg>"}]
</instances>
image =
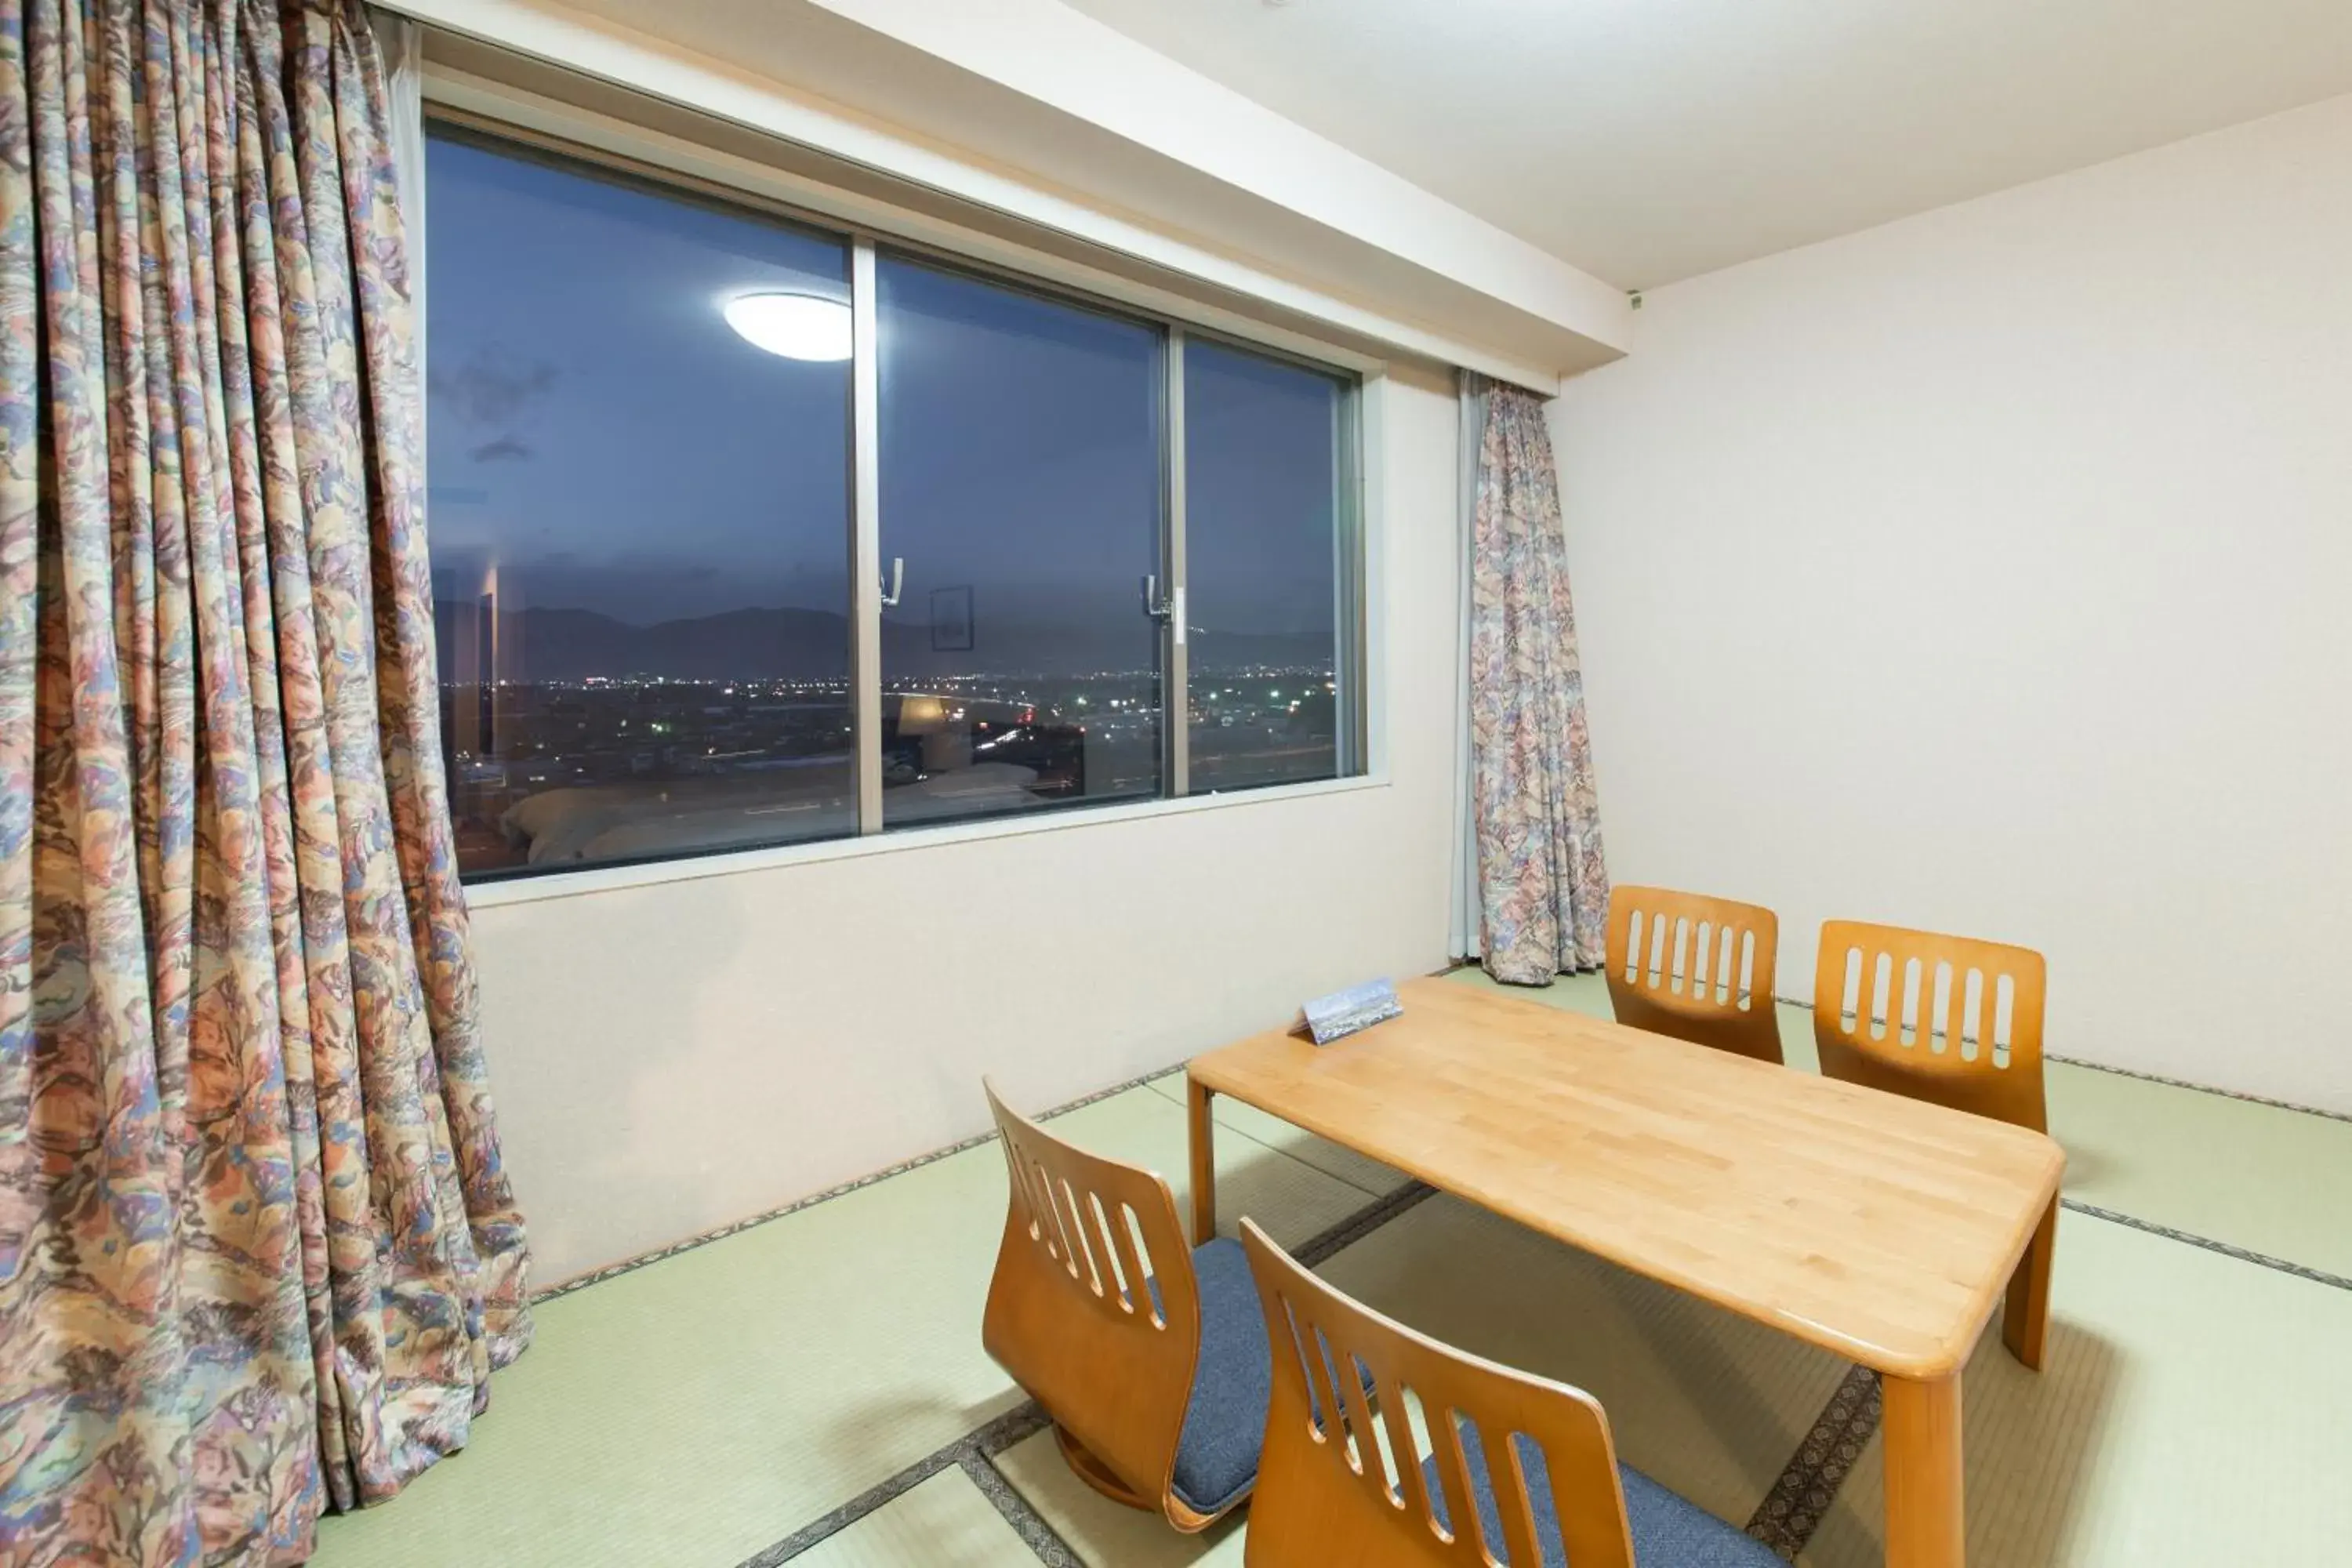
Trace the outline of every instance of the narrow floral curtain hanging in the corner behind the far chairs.
<instances>
[{"instance_id":1,"label":"narrow floral curtain hanging in the corner behind the far chairs","mask_svg":"<svg viewBox=\"0 0 2352 1568\"><path fill-rule=\"evenodd\" d=\"M1486 386L1470 534L1479 950L1512 985L1599 969L1609 867L1592 792L1569 541L1543 400Z\"/></svg>"}]
</instances>

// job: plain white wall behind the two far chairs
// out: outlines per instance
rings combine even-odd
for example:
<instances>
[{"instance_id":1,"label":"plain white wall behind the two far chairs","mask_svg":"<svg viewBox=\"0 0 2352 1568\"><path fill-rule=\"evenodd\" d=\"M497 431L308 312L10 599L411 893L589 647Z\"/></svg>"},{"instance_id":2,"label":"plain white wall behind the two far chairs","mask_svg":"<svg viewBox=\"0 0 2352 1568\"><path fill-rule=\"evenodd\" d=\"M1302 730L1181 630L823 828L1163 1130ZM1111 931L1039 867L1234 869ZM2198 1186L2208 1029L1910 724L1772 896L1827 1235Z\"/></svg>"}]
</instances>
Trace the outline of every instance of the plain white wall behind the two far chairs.
<instances>
[{"instance_id":1,"label":"plain white wall behind the two far chairs","mask_svg":"<svg viewBox=\"0 0 2352 1568\"><path fill-rule=\"evenodd\" d=\"M1611 872L2352 1110L2352 99L1661 289L1555 404Z\"/></svg>"}]
</instances>

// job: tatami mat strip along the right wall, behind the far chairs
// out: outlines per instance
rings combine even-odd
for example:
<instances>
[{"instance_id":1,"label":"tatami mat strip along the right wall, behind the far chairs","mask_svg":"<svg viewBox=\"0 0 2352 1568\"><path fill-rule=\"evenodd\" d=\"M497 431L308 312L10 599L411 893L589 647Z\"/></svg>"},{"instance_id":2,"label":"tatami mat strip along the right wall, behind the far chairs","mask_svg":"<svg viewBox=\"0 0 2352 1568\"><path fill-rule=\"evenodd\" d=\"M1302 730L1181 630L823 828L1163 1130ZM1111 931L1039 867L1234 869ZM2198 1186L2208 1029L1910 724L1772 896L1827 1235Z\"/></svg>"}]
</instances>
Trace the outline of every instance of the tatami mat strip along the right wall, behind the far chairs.
<instances>
[{"instance_id":1,"label":"tatami mat strip along the right wall, behind the far chairs","mask_svg":"<svg viewBox=\"0 0 2352 1568\"><path fill-rule=\"evenodd\" d=\"M1454 978L1494 985L1479 969ZM1609 1018L1602 976L1503 990ZM1790 1067L1818 1070L1806 1009L1780 1004L1780 1048ZM2352 1279L2352 1121L2072 1063L2046 1074L2070 1199Z\"/></svg>"}]
</instances>

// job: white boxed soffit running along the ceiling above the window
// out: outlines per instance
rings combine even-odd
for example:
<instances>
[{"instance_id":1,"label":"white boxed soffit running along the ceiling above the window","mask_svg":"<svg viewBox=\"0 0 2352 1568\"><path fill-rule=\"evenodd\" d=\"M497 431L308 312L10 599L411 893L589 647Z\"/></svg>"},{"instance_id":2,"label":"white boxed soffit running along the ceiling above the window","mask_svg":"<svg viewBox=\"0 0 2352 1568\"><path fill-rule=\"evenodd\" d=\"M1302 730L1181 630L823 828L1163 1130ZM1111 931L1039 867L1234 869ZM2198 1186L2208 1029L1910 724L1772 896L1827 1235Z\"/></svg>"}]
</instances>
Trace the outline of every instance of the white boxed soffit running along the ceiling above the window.
<instances>
[{"instance_id":1,"label":"white boxed soffit running along the ceiling above the window","mask_svg":"<svg viewBox=\"0 0 2352 1568\"><path fill-rule=\"evenodd\" d=\"M388 0L1404 355L1524 386L1613 360L1623 292L1056 0ZM1014 42L1007 42L1014 40ZM1105 87L1110 82L1110 87ZM957 247L950 247L957 249Z\"/></svg>"}]
</instances>

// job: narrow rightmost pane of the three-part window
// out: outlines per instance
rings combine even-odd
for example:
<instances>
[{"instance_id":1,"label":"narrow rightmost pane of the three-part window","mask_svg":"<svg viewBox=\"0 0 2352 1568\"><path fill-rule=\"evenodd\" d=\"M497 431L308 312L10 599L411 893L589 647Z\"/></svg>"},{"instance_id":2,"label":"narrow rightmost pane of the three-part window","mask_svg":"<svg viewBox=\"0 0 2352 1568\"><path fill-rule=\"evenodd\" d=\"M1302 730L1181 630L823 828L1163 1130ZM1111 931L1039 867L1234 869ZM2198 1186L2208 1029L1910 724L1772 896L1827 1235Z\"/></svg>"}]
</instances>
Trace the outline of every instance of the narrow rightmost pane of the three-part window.
<instances>
[{"instance_id":1,"label":"narrow rightmost pane of the three-part window","mask_svg":"<svg viewBox=\"0 0 2352 1568\"><path fill-rule=\"evenodd\" d=\"M1352 769L1355 383L1188 339L1190 792Z\"/></svg>"}]
</instances>

